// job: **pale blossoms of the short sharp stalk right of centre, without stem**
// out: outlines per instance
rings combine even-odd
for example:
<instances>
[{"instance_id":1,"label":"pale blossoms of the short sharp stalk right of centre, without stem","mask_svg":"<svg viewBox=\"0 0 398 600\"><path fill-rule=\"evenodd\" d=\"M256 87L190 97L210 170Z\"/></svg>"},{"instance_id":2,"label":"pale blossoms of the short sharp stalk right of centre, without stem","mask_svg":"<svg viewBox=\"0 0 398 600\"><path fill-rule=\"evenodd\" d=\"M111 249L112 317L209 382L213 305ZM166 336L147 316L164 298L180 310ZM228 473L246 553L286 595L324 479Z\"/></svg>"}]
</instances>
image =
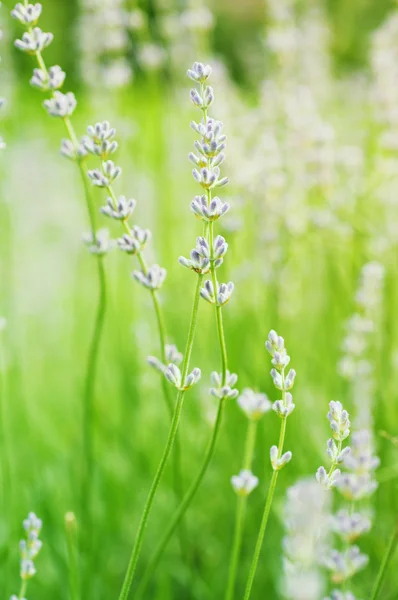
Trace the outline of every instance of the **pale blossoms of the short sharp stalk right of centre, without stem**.
<instances>
[{"instance_id":1,"label":"pale blossoms of the short sharp stalk right of centre, without stem","mask_svg":"<svg viewBox=\"0 0 398 600\"><path fill-rule=\"evenodd\" d=\"M276 331L270 331L265 347L272 356L271 363L274 368L271 370L271 377L274 386L282 392L282 398L273 403L272 409L282 420L286 420L295 408L293 396L289 390L294 385L296 371L289 369L288 373L285 374L286 367L290 363L290 356L285 348L285 340ZM274 471L282 469L292 458L290 450L282 452L283 448L281 446L271 446L270 458Z\"/></svg>"}]
</instances>

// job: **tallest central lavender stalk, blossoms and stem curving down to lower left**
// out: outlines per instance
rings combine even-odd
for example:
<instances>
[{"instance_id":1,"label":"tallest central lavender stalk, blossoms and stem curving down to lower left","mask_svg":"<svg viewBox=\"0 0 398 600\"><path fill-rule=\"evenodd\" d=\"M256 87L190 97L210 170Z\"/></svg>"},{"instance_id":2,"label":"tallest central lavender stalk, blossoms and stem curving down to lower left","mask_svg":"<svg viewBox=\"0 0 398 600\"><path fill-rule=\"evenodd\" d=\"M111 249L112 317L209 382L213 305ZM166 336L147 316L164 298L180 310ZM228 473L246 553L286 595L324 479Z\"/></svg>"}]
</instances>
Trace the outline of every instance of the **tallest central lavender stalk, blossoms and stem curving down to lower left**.
<instances>
[{"instance_id":1,"label":"tallest central lavender stalk, blossoms and stem curving down to lower left","mask_svg":"<svg viewBox=\"0 0 398 600\"><path fill-rule=\"evenodd\" d=\"M202 276L207 273L210 273L211 276L211 279L205 281L200 294L204 300L214 305L215 308L221 372L212 373L213 387L210 389L210 393L218 399L217 416L198 474L173 515L147 566L137 590L139 597L143 596L169 540L183 519L206 475L220 434L225 402L228 399L236 398L239 393L238 390L234 389L238 379L237 375L230 373L228 370L222 315L222 307L229 302L234 285L232 282L220 284L217 277L217 269L223 263L228 244L221 235L215 236L214 225L229 210L230 206L227 202L220 200L218 196L213 197L212 195L214 188L222 187L228 183L228 178L220 178L219 169L219 165L225 158L223 150L225 149L226 136L222 133L223 124L208 116L208 109L214 100L214 91L207 85L210 75L210 66L198 62L194 63L192 69L188 70L188 77L199 86L198 90L191 90L190 97L194 105L202 112L202 120L199 123L191 122L192 129L200 135L201 139L195 142L197 154L191 152L189 158L195 164L193 177L205 192L205 194L194 198L191 208L195 216L204 222L204 236L197 239L196 248L191 251L190 258L181 256L179 262L182 266Z\"/></svg>"}]
</instances>

